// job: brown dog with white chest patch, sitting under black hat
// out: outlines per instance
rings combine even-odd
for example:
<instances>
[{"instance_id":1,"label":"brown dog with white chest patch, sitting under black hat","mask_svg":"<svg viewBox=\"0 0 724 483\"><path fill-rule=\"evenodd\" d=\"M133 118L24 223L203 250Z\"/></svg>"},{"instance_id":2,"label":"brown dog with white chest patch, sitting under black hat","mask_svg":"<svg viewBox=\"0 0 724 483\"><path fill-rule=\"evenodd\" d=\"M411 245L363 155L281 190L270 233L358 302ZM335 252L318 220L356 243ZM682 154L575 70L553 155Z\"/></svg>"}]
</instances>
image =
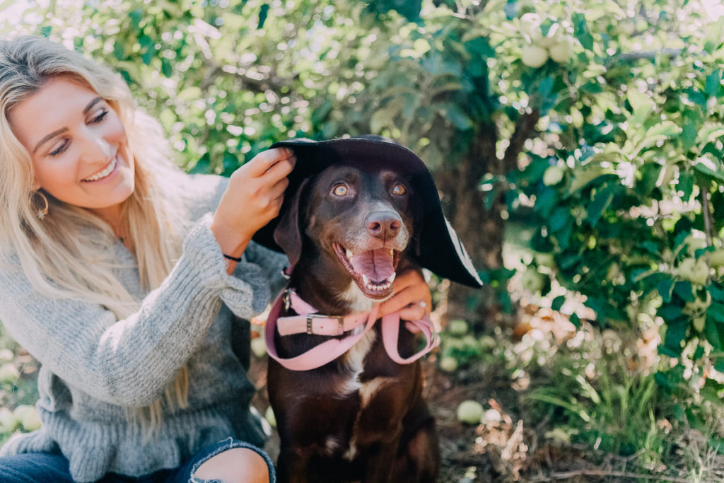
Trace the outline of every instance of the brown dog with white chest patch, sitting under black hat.
<instances>
[{"instance_id":1,"label":"brown dog with white chest patch, sitting under black hat","mask_svg":"<svg viewBox=\"0 0 724 483\"><path fill-rule=\"evenodd\" d=\"M407 252L418 249L416 196L413 182L393 169L334 164L305 180L274 232L294 264L288 290L329 316L370 311L389 298L395 274L411 267ZM279 315L293 314L287 303ZM316 369L290 370L269 358L280 482L437 479L437 434L418 362L392 361L379 323L361 329L350 331L361 337L352 348ZM273 335L281 358L345 336ZM404 322L397 350L403 358L415 353Z\"/></svg>"}]
</instances>

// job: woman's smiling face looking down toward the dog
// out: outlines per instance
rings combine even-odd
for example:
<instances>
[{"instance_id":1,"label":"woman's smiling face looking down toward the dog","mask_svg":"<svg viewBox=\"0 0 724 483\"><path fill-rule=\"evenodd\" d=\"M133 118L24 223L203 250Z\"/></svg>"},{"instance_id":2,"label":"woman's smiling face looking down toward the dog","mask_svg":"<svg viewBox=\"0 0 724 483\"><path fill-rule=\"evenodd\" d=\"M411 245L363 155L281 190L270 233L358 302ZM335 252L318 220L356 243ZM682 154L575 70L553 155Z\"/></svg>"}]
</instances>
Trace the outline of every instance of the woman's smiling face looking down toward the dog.
<instances>
[{"instance_id":1,"label":"woman's smiling face looking down toward the dog","mask_svg":"<svg viewBox=\"0 0 724 483\"><path fill-rule=\"evenodd\" d=\"M33 160L34 189L115 222L134 188L133 156L117 112L87 86L56 77L9 114Z\"/></svg>"}]
</instances>

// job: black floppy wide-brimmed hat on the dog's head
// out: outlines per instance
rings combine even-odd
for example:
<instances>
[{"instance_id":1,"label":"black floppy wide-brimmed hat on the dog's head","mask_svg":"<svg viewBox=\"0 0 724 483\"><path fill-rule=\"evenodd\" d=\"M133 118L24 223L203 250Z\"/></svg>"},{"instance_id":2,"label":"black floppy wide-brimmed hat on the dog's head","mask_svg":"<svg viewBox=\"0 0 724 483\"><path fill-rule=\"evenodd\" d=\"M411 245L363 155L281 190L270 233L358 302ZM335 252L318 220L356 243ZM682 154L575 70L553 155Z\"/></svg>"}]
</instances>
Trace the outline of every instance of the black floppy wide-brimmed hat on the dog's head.
<instances>
[{"instance_id":1,"label":"black floppy wide-brimmed hat on the dog's head","mask_svg":"<svg viewBox=\"0 0 724 483\"><path fill-rule=\"evenodd\" d=\"M358 164L369 167L394 167L411 178L413 189L423 203L420 227L420 250L411 259L431 272L470 287L481 287L473 262L460 242L455 230L442 214L437 188L425 163L408 148L382 138L339 138L315 141L297 138L274 143L271 148L290 148L297 164L288 176L287 193L296 193L303 180L313 177L332 164ZM290 196L285 197L282 212ZM280 217L258 230L253 240L275 251L282 248L274 242L274 230Z\"/></svg>"}]
</instances>

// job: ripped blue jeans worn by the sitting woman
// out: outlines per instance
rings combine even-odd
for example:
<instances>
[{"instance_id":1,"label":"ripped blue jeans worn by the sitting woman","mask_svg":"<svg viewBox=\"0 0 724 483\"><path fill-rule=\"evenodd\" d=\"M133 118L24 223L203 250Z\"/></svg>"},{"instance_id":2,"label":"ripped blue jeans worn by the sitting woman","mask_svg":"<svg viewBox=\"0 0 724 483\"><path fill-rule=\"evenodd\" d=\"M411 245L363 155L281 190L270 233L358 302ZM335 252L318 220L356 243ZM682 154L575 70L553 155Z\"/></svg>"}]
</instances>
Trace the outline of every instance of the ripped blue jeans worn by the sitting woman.
<instances>
[{"instance_id":1,"label":"ripped blue jeans worn by the sitting woman","mask_svg":"<svg viewBox=\"0 0 724 483\"><path fill-rule=\"evenodd\" d=\"M248 442L227 438L199 450L189 461L178 468L163 469L146 476L125 476L109 473L101 483L221 483L218 479L198 479L193 474L212 456L232 448L248 448L256 451L269 467L269 483L277 481L274 465L269 455ZM3 483L72 483L68 460L60 454L25 453L0 458L0 482Z\"/></svg>"}]
</instances>

